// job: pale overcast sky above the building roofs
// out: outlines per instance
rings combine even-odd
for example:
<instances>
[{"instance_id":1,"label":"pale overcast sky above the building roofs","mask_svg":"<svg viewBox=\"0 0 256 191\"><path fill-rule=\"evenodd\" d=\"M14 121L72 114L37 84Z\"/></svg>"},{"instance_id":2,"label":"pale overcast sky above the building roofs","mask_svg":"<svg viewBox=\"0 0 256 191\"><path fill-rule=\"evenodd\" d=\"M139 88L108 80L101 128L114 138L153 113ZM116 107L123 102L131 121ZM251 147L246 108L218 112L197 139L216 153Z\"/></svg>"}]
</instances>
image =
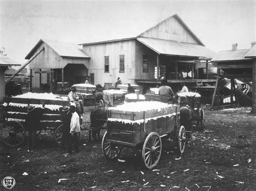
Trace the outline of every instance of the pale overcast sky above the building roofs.
<instances>
[{"instance_id":1,"label":"pale overcast sky above the building roofs","mask_svg":"<svg viewBox=\"0 0 256 191\"><path fill-rule=\"evenodd\" d=\"M255 0L0 0L0 47L23 64L41 38L79 44L135 37L174 13L215 52L256 41Z\"/></svg>"}]
</instances>

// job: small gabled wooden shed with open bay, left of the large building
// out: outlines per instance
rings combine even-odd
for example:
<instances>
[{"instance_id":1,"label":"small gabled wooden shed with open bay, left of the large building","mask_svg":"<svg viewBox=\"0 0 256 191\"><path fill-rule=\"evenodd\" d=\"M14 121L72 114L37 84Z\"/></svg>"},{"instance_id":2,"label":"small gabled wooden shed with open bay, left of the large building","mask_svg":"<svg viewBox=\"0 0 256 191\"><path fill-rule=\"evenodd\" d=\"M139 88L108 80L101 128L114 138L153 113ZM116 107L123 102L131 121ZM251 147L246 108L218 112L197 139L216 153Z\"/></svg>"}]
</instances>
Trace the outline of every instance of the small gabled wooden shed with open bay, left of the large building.
<instances>
[{"instance_id":1,"label":"small gabled wooden shed with open bay, left of the large building","mask_svg":"<svg viewBox=\"0 0 256 191\"><path fill-rule=\"evenodd\" d=\"M33 92L40 91L42 84L51 86L56 81L70 86L84 82L88 76L90 57L73 43L40 39L25 59L32 59L29 69Z\"/></svg>"}]
</instances>

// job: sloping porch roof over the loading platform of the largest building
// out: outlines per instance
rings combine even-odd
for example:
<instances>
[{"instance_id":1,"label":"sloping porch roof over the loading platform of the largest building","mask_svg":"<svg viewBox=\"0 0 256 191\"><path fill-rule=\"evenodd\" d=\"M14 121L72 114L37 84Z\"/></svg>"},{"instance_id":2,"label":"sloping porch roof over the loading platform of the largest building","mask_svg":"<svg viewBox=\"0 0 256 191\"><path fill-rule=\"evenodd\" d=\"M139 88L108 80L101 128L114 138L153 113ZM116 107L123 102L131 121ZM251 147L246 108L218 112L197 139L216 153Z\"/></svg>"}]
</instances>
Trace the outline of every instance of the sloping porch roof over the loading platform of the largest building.
<instances>
[{"instance_id":1,"label":"sloping porch roof over the loading platform of the largest building","mask_svg":"<svg viewBox=\"0 0 256 191\"><path fill-rule=\"evenodd\" d=\"M138 37L137 40L159 54L208 58L212 58L216 54L199 44L146 37Z\"/></svg>"}]
</instances>

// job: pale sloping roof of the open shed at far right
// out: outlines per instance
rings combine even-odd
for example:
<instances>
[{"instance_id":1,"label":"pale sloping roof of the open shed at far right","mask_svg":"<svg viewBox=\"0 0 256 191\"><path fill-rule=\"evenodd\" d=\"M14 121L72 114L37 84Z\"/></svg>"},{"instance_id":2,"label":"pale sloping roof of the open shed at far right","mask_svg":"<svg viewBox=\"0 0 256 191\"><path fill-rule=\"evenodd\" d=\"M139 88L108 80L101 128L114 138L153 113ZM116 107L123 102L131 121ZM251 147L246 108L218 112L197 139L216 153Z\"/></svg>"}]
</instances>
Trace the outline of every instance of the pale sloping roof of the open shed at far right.
<instances>
[{"instance_id":1,"label":"pale sloping roof of the open shed at far right","mask_svg":"<svg viewBox=\"0 0 256 191\"><path fill-rule=\"evenodd\" d=\"M250 51L250 49L220 51L214 58L212 58L211 62L245 60L245 55L248 51Z\"/></svg>"}]
</instances>

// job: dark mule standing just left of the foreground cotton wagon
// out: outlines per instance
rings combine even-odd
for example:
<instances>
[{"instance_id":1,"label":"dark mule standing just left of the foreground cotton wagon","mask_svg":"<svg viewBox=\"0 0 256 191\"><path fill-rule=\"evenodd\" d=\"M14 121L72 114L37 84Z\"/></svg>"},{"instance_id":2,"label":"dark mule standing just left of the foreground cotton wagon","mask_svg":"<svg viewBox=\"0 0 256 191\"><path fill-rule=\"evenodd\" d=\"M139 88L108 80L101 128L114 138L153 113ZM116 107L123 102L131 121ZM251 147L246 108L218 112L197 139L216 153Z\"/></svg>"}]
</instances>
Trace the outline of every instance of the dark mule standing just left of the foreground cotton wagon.
<instances>
[{"instance_id":1,"label":"dark mule standing just left of the foreground cotton wagon","mask_svg":"<svg viewBox=\"0 0 256 191\"><path fill-rule=\"evenodd\" d=\"M107 108L106 107L100 107L95 108L92 110L90 114L90 120L91 120L91 129L89 130L89 139L90 140L100 140L100 130L102 129L103 125L107 121ZM95 129L95 130L93 130ZM92 134L92 138L91 138Z\"/></svg>"}]
</instances>

